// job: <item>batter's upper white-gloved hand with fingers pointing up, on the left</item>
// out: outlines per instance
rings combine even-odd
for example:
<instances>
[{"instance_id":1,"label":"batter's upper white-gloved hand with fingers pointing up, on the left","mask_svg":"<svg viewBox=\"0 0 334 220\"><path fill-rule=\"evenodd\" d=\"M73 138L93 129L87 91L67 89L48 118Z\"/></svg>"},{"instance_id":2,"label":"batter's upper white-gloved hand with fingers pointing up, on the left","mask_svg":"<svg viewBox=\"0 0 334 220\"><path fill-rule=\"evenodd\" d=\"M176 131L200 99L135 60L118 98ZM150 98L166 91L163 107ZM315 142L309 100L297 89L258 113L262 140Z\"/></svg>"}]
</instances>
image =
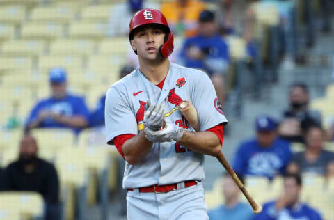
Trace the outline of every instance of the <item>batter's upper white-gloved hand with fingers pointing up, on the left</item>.
<instances>
[{"instance_id":1,"label":"batter's upper white-gloved hand with fingers pointing up, on the left","mask_svg":"<svg viewBox=\"0 0 334 220\"><path fill-rule=\"evenodd\" d=\"M146 103L150 105L150 101ZM161 102L156 106L150 105L150 107L148 107L148 110L146 110L144 114L145 127L148 127L153 131L162 127L165 119L165 105L166 102Z\"/></svg>"}]
</instances>

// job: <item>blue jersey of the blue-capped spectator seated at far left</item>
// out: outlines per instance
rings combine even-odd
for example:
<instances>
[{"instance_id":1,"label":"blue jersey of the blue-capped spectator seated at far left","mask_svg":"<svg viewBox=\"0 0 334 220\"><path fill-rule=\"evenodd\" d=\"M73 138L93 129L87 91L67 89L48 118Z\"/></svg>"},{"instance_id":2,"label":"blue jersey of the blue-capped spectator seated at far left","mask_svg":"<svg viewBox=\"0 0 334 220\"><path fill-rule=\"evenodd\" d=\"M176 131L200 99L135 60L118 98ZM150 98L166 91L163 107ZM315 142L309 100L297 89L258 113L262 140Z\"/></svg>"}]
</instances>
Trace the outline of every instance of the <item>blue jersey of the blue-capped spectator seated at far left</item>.
<instances>
[{"instance_id":1,"label":"blue jersey of the blue-capped spectator seated at far left","mask_svg":"<svg viewBox=\"0 0 334 220\"><path fill-rule=\"evenodd\" d=\"M33 107L26 124L31 123L38 117L40 111L53 111L63 116L82 116L88 120L89 111L86 106L84 98L76 95L66 95L63 99L56 100L53 97L41 100L35 107ZM72 128L61 123L57 123L52 118L44 120L40 127L60 127L60 128ZM74 132L79 132L80 129L72 128Z\"/></svg>"}]
</instances>

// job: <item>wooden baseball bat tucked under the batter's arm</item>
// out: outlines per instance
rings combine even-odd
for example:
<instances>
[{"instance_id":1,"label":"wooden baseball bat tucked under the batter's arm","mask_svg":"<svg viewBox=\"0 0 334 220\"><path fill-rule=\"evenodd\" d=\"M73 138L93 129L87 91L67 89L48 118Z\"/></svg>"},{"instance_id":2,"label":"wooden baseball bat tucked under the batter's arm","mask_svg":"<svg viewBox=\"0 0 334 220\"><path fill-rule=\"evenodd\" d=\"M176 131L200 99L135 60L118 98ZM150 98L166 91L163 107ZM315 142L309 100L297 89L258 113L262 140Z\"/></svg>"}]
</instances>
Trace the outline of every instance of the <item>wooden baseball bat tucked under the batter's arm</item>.
<instances>
[{"instance_id":1,"label":"wooden baseball bat tucked under the batter's arm","mask_svg":"<svg viewBox=\"0 0 334 220\"><path fill-rule=\"evenodd\" d=\"M186 120L188 121L189 125L191 125L191 127L193 127L193 129L195 129L196 132L199 132L200 131L200 126L198 125L197 111L196 111L195 107L193 107L193 104L191 104L191 102L189 102L189 101L182 101L179 105L179 109L180 109L182 115L184 116L184 118L186 118ZM219 162L221 162L221 164L223 165L225 170L228 171L228 173L230 174L230 176L232 177L234 182L237 184L237 186L241 190L242 194L244 194L248 203L252 207L253 212L255 214L259 214L262 211L261 205L257 204L254 201L253 197L250 196L250 194L248 193L244 184L242 184L242 182L239 180L237 174L234 173L232 167L230 166L228 161L225 159L223 153L219 152L219 154L218 154L218 156L216 156L216 158L218 159Z\"/></svg>"}]
</instances>

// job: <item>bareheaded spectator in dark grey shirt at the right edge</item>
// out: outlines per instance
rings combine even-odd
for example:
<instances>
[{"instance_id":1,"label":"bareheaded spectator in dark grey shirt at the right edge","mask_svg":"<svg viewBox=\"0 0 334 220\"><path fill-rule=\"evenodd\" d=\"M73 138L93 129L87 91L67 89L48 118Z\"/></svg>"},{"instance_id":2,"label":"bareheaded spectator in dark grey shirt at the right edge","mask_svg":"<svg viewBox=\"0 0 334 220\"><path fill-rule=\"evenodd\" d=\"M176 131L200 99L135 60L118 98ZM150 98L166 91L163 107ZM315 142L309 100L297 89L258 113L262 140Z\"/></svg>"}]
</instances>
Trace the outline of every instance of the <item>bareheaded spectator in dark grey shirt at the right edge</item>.
<instances>
[{"instance_id":1,"label":"bareheaded spectator in dark grey shirt at the right edge","mask_svg":"<svg viewBox=\"0 0 334 220\"><path fill-rule=\"evenodd\" d=\"M305 132L305 150L292 156L288 171L334 176L334 153L324 150L324 139L325 132L321 127L308 128Z\"/></svg>"}]
</instances>

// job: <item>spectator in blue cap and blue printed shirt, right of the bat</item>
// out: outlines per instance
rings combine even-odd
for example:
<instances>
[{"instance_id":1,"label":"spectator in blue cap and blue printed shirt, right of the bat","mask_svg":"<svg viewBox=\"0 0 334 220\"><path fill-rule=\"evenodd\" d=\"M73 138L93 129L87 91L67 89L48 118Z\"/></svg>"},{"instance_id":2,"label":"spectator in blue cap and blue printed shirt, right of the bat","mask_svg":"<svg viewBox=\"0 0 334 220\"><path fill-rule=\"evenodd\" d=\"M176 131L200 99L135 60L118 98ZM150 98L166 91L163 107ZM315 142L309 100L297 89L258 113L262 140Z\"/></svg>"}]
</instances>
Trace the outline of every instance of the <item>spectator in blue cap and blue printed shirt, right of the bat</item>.
<instances>
[{"instance_id":1,"label":"spectator in blue cap and blue printed shirt, right of the bat","mask_svg":"<svg viewBox=\"0 0 334 220\"><path fill-rule=\"evenodd\" d=\"M269 116L256 118L257 136L239 146L233 168L241 175L274 178L283 174L292 157L289 143L277 136L277 123Z\"/></svg>"}]
</instances>

